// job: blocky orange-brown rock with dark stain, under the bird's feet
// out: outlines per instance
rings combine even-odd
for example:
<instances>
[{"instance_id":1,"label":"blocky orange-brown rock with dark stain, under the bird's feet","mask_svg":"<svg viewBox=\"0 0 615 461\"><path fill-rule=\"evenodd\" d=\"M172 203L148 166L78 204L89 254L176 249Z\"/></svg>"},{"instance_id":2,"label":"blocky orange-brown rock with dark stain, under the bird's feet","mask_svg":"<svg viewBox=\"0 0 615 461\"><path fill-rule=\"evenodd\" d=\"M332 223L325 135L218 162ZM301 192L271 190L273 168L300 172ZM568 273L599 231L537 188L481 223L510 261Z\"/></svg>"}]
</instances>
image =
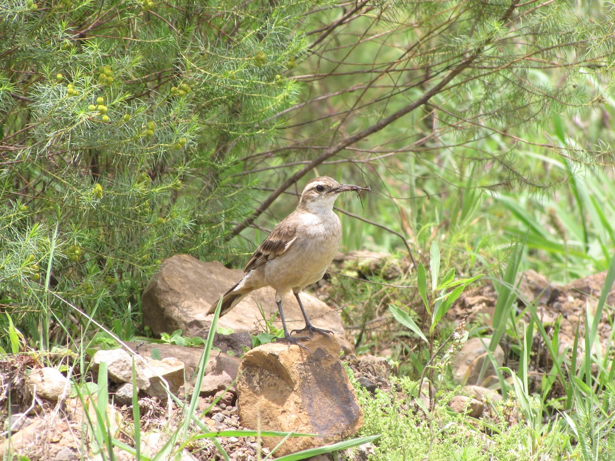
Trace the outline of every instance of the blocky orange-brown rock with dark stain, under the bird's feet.
<instances>
[{"instance_id":1,"label":"blocky orange-brown rock with dark stain, under the bird's feet","mask_svg":"<svg viewBox=\"0 0 615 461\"><path fill-rule=\"evenodd\" d=\"M237 379L241 424L246 428L318 434L290 437L276 456L335 443L353 436L363 413L338 345L317 334L297 345L264 344L245 354ZM282 437L264 437L272 449Z\"/></svg>"}]
</instances>

